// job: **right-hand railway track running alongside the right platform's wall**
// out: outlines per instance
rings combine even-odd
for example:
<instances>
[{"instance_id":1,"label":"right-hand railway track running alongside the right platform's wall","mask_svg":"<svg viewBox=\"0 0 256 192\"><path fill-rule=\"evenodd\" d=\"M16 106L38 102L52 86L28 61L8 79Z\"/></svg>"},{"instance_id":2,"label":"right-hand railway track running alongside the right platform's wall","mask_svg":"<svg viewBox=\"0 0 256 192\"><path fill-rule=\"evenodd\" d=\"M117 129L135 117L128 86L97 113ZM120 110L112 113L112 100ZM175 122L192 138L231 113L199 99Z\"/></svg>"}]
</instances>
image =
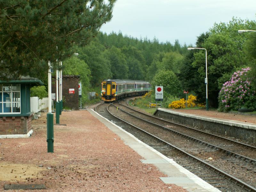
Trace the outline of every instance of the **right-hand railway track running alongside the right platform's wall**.
<instances>
[{"instance_id":1,"label":"right-hand railway track running alongside the right platform's wall","mask_svg":"<svg viewBox=\"0 0 256 192\"><path fill-rule=\"evenodd\" d=\"M120 106L127 108L128 111L126 110L126 112L128 112L130 115L155 123L157 126L164 126L169 131L175 132L189 139L197 140L198 142L204 143L205 145L219 148L219 150L222 150L232 157L243 159L248 163L256 165L256 147L254 146L151 116L118 102L119 109Z\"/></svg>"}]
</instances>

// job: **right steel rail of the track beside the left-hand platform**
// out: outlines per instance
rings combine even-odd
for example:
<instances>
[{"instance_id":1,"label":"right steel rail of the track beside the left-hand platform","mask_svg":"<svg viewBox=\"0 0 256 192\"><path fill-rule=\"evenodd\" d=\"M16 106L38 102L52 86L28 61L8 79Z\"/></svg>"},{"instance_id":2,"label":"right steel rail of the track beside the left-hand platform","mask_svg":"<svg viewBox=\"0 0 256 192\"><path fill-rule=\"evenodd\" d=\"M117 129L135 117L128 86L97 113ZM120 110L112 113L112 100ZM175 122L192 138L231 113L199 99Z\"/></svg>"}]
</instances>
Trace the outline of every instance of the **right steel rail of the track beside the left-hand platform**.
<instances>
[{"instance_id":1,"label":"right steel rail of the track beside the left-hand platform","mask_svg":"<svg viewBox=\"0 0 256 192\"><path fill-rule=\"evenodd\" d=\"M112 103L109 104L108 107L109 107L110 105L113 105L113 104L112 104ZM114 105L113 105L113 106L114 106ZM137 127L137 126L135 126L135 125L132 125L132 124L130 124L129 122L124 121L123 119L121 119L121 118L119 118L119 117L113 115L113 114L109 111L108 107L107 107L108 112L109 112L112 116L114 116L114 117L116 117L117 119L119 119L120 121L122 121L122 122L124 122L124 123L126 123L126 124L129 124L130 126L132 126L132 127L136 128L136 129L138 129L138 130L140 130L140 131L142 131L142 132L144 132L144 133L150 135L151 137L153 137L153 138L155 138L155 139L157 139L157 140L160 140L161 142L163 142L163 143L169 145L170 147L174 148L175 150L178 150L179 152L182 152L182 153L185 154L187 157L189 157L189 158L195 160L196 162L198 161L200 164L203 164L206 168L208 168L208 169L211 170L212 172L219 174L221 177L223 177L223 178L225 178L225 179L227 179L227 180L229 180L229 181L232 181L232 182L235 183L237 186L239 186L239 187L241 187L241 188L244 188L245 190L247 190L247 191L249 191L249 192L256 192L256 188L254 188L253 186L251 186L251 185L245 183L244 181L242 181L242 180L240 180L240 179L238 179L238 178L236 178L236 177L234 177L234 176L232 176L232 175L230 175L230 174L228 174L228 173L226 173L226 172L224 172L224 171L218 169L217 167L215 167L215 166L213 166L213 165L211 165L211 164L208 164L208 163L204 162L203 160L197 158L196 156L193 156L193 155L187 153L186 151L184 151L184 150L182 150L182 149L180 149L180 148L178 148L178 147L172 145L171 143L168 143L168 142L166 142L166 141L164 141L164 140L162 140L162 139L156 137L155 135L152 135L151 133L146 132L146 131L140 129L139 127Z\"/></svg>"}]
</instances>

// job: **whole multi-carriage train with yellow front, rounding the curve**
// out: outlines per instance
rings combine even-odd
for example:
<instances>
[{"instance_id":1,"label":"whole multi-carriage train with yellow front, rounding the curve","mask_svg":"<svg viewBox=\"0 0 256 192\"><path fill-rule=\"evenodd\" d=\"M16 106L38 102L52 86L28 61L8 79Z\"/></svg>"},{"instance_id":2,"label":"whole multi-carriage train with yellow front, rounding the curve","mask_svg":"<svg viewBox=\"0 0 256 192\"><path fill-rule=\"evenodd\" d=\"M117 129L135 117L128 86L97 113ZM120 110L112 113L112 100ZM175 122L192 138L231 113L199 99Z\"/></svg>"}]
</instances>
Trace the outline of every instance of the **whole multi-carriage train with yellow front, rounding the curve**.
<instances>
[{"instance_id":1,"label":"whole multi-carriage train with yellow front, rounding the curve","mask_svg":"<svg viewBox=\"0 0 256 192\"><path fill-rule=\"evenodd\" d=\"M108 79L101 83L101 99L105 102L126 97L144 95L151 90L146 81Z\"/></svg>"}]
</instances>

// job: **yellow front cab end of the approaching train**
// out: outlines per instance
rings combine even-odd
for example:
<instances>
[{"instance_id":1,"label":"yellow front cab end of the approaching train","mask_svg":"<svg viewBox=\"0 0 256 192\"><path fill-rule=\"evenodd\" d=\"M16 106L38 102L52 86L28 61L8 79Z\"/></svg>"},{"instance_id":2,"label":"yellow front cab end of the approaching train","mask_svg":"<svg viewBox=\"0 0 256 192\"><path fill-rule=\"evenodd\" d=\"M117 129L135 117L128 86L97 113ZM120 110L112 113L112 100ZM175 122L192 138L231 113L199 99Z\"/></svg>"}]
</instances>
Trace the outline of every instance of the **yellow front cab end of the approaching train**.
<instances>
[{"instance_id":1,"label":"yellow front cab end of the approaching train","mask_svg":"<svg viewBox=\"0 0 256 192\"><path fill-rule=\"evenodd\" d=\"M103 81L101 83L101 99L104 101L116 100L116 82Z\"/></svg>"}]
</instances>

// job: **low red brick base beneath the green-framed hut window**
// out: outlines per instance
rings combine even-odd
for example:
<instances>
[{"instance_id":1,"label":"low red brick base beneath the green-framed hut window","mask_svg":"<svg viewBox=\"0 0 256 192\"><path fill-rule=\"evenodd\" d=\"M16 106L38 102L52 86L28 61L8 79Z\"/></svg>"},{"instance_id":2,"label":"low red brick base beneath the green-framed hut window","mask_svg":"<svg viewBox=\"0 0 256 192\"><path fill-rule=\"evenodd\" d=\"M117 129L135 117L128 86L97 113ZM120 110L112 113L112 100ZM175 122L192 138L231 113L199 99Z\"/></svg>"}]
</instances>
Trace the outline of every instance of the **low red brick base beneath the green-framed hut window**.
<instances>
[{"instance_id":1,"label":"low red brick base beneath the green-framed hut window","mask_svg":"<svg viewBox=\"0 0 256 192\"><path fill-rule=\"evenodd\" d=\"M27 134L31 130L31 116L0 117L0 134Z\"/></svg>"}]
</instances>

